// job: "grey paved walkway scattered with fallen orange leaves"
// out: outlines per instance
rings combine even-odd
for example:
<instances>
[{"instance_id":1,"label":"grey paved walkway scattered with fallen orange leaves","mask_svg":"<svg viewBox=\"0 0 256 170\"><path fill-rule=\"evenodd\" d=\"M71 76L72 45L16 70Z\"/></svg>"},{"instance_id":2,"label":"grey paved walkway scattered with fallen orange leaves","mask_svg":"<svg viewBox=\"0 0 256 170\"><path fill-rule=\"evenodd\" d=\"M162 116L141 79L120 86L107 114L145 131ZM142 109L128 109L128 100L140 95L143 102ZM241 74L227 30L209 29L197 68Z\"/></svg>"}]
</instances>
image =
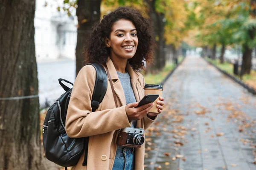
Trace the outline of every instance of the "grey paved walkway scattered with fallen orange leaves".
<instances>
[{"instance_id":1,"label":"grey paved walkway scattered with fallen orange leaves","mask_svg":"<svg viewBox=\"0 0 256 170\"><path fill-rule=\"evenodd\" d=\"M256 96L192 56L163 96L165 112L146 131L145 170L256 170Z\"/></svg>"}]
</instances>

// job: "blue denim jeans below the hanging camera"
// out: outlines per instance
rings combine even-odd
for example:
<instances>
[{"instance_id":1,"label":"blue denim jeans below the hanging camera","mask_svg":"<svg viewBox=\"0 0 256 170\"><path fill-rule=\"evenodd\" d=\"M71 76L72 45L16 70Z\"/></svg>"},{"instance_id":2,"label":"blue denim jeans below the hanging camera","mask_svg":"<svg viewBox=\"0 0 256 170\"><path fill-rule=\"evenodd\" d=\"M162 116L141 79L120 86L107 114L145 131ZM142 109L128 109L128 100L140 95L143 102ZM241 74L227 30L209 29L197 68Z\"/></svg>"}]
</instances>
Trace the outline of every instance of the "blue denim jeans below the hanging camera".
<instances>
[{"instance_id":1,"label":"blue denim jeans below the hanging camera","mask_svg":"<svg viewBox=\"0 0 256 170\"><path fill-rule=\"evenodd\" d=\"M134 147L117 148L112 170L134 170Z\"/></svg>"}]
</instances>

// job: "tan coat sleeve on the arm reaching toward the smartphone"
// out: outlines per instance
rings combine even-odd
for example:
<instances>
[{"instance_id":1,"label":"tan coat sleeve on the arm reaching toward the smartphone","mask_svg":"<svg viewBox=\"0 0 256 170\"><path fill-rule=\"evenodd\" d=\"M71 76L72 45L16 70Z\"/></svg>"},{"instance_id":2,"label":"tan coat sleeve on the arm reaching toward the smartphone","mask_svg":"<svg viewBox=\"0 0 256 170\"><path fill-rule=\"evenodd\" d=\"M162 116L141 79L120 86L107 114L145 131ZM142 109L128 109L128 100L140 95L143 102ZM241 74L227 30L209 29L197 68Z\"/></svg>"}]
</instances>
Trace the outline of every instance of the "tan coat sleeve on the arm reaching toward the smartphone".
<instances>
[{"instance_id":1,"label":"tan coat sleeve on the arm reaching toward the smartphone","mask_svg":"<svg viewBox=\"0 0 256 170\"><path fill-rule=\"evenodd\" d=\"M84 66L76 77L66 118L66 132L72 138L98 135L131 126L125 106L92 112L95 79L96 70L92 65Z\"/></svg>"}]
</instances>

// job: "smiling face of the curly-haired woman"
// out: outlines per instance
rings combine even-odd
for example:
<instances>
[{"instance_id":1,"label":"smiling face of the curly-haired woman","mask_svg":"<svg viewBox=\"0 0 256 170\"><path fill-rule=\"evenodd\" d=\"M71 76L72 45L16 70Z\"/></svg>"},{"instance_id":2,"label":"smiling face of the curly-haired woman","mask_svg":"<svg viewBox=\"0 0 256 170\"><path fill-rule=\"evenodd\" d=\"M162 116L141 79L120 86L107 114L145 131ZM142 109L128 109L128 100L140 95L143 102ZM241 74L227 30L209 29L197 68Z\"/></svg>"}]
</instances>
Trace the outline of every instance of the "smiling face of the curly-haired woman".
<instances>
[{"instance_id":1,"label":"smiling face of the curly-haired woman","mask_svg":"<svg viewBox=\"0 0 256 170\"><path fill-rule=\"evenodd\" d=\"M134 57L139 43L134 24L129 20L118 20L112 26L110 38L105 40L110 48L111 59L130 59Z\"/></svg>"}]
</instances>

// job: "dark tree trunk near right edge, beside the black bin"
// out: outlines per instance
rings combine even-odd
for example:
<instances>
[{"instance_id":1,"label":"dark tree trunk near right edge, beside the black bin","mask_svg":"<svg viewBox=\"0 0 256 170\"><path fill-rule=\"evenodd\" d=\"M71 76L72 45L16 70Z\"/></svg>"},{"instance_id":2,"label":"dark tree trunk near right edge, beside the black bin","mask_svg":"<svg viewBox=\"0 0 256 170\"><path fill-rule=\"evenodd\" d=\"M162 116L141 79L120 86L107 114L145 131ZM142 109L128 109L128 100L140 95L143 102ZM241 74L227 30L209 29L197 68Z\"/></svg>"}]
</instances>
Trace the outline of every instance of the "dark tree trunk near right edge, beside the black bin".
<instances>
[{"instance_id":1,"label":"dark tree trunk near right edge, beside the black bin","mask_svg":"<svg viewBox=\"0 0 256 170\"><path fill-rule=\"evenodd\" d=\"M243 46L243 62L242 62L242 74L250 74L252 65L252 48L248 45Z\"/></svg>"}]
</instances>

